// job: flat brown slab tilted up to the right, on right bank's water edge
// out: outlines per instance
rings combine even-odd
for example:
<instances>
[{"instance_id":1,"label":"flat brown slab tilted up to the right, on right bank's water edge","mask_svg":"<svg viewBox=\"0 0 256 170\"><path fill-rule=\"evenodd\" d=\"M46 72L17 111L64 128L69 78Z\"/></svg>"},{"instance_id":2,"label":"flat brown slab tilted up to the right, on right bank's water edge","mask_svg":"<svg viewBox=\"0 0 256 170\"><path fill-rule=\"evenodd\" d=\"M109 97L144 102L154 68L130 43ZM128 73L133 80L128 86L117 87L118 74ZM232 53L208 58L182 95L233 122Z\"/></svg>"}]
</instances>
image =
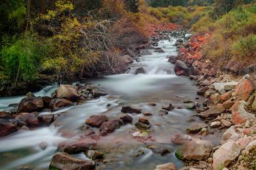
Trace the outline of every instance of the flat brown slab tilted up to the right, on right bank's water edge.
<instances>
[{"instance_id":1,"label":"flat brown slab tilted up to the right, on right bank's water edge","mask_svg":"<svg viewBox=\"0 0 256 170\"><path fill-rule=\"evenodd\" d=\"M225 110L225 108L223 107L223 105L218 104L215 105L213 107L211 107L210 109L206 110L205 112L200 112L200 114L198 114L198 116L200 118L217 118L217 116L221 115L221 113Z\"/></svg>"}]
</instances>

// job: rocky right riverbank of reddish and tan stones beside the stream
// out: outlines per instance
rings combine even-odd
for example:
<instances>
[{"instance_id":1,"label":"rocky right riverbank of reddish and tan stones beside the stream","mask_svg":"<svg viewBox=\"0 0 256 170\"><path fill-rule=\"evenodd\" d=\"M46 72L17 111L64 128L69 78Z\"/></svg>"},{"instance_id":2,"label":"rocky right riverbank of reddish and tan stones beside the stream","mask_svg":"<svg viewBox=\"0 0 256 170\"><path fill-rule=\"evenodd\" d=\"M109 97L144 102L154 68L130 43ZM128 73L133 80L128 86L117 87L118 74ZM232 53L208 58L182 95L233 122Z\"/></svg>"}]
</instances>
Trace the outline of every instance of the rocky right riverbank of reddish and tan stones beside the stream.
<instances>
[{"instance_id":1,"label":"rocky right riverbank of reddish and tan stones beside the stream","mask_svg":"<svg viewBox=\"0 0 256 170\"><path fill-rule=\"evenodd\" d=\"M208 98L202 107L195 107L198 112L195 116L204 123L188 127L188 133L207 135L218 129L226 131L220 145L215 147L211 141L177 134L173 143L183 144L175 155L188 164L182 169L255 169L255 74L241 77L216 70L215 63L201 54L200 47L209 36L193 36L184 44L177 41L179 55L169 56L169 61L175 64L177 75L194 80L200 88L198 95Z\"/></svg>"}]
</instances>

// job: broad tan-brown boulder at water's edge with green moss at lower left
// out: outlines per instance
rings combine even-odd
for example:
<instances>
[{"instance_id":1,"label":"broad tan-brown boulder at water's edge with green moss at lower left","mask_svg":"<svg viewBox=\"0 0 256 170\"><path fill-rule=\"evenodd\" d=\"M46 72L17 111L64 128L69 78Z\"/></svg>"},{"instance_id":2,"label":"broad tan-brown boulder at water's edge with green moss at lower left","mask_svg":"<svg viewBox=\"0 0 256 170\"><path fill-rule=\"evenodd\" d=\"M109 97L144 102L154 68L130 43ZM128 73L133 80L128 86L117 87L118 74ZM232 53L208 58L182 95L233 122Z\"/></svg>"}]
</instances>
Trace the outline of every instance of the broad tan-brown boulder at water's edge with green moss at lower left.
<instances>
[{"instance_id":1,"label":"broad tan-brown boulder at water's edge with green moss at lower left","mask_svg":"<svg viewBox=\"0 0 256 170\"><path fill-rule=\"evenodd\" d=\"M209 157L212 148L213 143L211 143L211 141L193 139L192 141L182 144L175 153L175 156L179 158L179 160L200 161Z\"/></svg>"}]
</instances>

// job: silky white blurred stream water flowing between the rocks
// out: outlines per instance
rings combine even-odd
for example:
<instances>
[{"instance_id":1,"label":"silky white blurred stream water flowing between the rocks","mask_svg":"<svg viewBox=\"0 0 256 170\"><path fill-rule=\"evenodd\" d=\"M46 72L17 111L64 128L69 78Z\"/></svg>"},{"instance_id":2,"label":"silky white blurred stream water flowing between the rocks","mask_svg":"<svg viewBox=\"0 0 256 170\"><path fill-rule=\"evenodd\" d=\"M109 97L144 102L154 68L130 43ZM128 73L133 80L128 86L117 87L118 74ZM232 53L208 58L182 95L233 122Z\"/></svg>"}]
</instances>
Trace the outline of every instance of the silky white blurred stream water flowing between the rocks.
<instances>
[{"instance_id":1,"label":"silky white blurred stream water flowing between the rocks","mask_svg":"<svg viewBox=\"0 0 256 170\"><path fill-rule=\"evenodd\" d=\"M173 162L177 167L182 167L182 161L175 158L177 145L171 144L171 136L174 133L186 133L185 129L191 123L186 120L195 114L194 110L174 109L166 116L159 116L158 111L162 105L172 103L176 106L183 106L185 99L195 101L197 87L186 77L176 76L171 63L167 62L167 55L177 55L174 46L176 39L171 41L160 41L159 47L164 53L149 50L152 55L140 57L140 61L134 61L131 69L125 74L105 76L100 80L91 80L89 83L99 86L101 90L109 93L99 99L83 101L81 105L64 108L54 112L60 114L57 120L49 127L40 127L31 131L18 131L0 139L0 169L20 169L31 167L33 169L47 169L53 154L56 152L58 143L75 139L83 134L79 127L85 125L85 120L93 114L106 114L109 118L116 118L123 115L123 105L134 105L141 107L143 112L151 112L148 116L152 127L148 134L156 141L148 141L144 144L132 137L136 131L134 124L141 114L130 114L133 116L133 125L121 126L114 133L101 137L96 146L97 150L105 153L107 163L99 163L98 167L103 169L154 169L156 165ZM139 67L144 67L146 74L135 75ZM88 83L88 82L87 82ZM57 86L47 86L35 95L51 95ZM0 98L0 110L11 109L11 103L18 103L20 97ZM198 103L203 98L197 100ZM149 102L156 103L156 106L148 105ZM110 104L110 107L106 105ZM50 114L43 112L41 114ZM196 120L200 121L200 120ZM94 129L96 132L97 128ZM208 135L205 137L217 143L219 136ZM39 144L47 143L47 148L41 150ZM166 146L172 150L171 154L160 156L152 153L146 146L155 144ZM138 150L144 154L135 158L132 155ZM76 158L88 159L84 154L74 155Z\"/></svg>"}]
</instances>

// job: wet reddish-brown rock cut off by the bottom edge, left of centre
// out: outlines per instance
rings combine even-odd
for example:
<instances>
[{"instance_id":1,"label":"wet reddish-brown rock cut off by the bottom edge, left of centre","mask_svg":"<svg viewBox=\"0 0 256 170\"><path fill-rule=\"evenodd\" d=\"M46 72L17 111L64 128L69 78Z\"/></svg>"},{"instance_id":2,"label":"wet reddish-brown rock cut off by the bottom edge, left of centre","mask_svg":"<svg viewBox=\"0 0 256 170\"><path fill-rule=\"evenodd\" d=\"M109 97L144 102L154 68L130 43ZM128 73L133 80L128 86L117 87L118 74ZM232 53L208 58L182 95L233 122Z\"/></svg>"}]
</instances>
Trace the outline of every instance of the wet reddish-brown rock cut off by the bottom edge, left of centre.
<instances>
[{"instance_id":1,"label":"wet reddish-brown rock cut off by the bottom edge, left of centre","mask_svg":"<svg viewBox=\"0 0 256 170\"><path fill-rule=\"evenodd\" d=\"M49 169L63 169L63 170L93 170L96 163L91 160L80 160L72 158L68 154L57 153L53 156Z\"/></svg>"}]
</instances>

